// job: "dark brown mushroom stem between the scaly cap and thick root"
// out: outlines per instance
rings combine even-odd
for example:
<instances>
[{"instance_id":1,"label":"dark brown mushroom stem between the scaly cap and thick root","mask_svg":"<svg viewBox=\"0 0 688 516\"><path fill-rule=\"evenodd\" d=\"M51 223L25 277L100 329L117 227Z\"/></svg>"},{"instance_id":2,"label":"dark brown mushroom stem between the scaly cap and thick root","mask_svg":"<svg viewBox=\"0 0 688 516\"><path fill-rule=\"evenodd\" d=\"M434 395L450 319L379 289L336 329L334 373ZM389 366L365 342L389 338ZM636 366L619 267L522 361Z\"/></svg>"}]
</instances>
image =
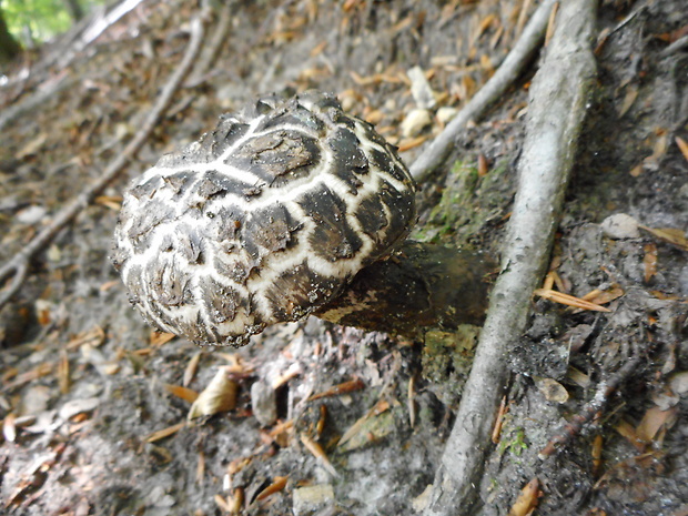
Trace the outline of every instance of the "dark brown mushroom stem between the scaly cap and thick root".
<instances>
[{"instance_id":1,"label":"dark brown mushroom stem between the scaly cap and thick root","mask_svg":"<svg viewBox=\"0 0 688 516\"><path fill-rule=\"evenodd\" d=\"M496 262L476 251L406 241L361 271L314 315L367 331L416 337L429 328L480 324Z\"/></svg>"}]
</instances>

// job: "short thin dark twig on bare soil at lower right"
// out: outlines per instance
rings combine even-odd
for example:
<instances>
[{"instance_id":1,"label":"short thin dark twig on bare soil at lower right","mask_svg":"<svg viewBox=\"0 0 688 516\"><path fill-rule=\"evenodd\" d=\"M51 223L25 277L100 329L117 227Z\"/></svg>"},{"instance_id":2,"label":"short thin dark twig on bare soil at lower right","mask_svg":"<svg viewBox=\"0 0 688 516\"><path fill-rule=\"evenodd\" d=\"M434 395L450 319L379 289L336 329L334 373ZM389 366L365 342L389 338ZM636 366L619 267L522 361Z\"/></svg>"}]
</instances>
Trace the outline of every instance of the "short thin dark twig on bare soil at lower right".
<instances>
[{"instance_id":1,"label":"short thin dark twig on bare soil at lower right","mask_svg":"<svg viewBox=\"0 0 688 516\"><path fill-rule=\"evenodd\" d=\"M555 435L547 443L537 456L545 459L570 443L573 438L580 433L583 426L593 421L595 414L604 408L609 401L611 393L614 393L614 391L619 387L621 382L624 382L628 375L635 371L639 362L640 355L634 356L631 360L626 362L626 364L624 364L609 380L600 382L593 399L586 403L583 409L576 414L569 423L566 423L561 427L557 435Z\"/></svg>"}]
</instances>

